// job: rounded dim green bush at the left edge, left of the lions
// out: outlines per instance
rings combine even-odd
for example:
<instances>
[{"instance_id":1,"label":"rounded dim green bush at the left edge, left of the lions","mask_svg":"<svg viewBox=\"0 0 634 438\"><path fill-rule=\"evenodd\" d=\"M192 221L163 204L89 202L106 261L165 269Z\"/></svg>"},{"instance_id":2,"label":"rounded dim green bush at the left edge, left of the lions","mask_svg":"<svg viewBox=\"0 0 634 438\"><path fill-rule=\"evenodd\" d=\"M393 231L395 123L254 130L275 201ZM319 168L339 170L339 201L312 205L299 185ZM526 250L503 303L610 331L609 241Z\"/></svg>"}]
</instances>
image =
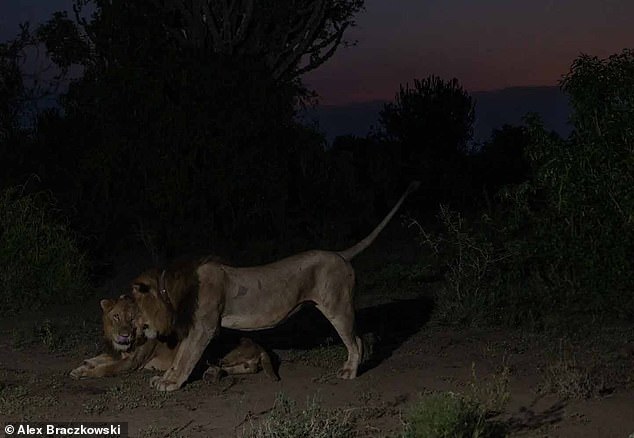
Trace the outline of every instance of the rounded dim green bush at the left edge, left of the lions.
<instances>
[{"instance_id":1,"label":"rounded dim green bush at the left edge, left of the lions","mask_svg":"<svg viewBox=\"0 0 634 438\"><path fill-rule=\"evenodd\" d=\"M76 238L46 192L0 193L0 313L70 303L89 292Z\"/></svg>"}]
</instances>

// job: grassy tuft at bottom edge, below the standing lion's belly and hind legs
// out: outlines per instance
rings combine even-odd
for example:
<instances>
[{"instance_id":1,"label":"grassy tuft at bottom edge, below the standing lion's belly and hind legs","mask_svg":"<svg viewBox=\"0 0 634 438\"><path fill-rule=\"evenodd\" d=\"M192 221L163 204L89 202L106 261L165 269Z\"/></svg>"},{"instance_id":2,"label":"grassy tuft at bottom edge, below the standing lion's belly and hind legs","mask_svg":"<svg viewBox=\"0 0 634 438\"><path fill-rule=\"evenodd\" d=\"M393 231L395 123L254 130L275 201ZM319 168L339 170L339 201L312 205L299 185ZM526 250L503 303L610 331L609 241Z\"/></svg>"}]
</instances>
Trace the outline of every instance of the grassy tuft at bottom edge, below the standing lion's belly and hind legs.
<instances>
[{"instance_id":1,"label":"grassy tuft at bottom edge, below the standing lion's belly and hind legs","mask_svg":"<svg viewBox=\"0 0 634 438\"><path fill-rule=\"evenodd\" d=\"M354 436L350 414L323 409L313 398L305 408L278 393L273 409L259 423L250 422L242 438L348 438Z\"/></svg>"}]
</instances>

